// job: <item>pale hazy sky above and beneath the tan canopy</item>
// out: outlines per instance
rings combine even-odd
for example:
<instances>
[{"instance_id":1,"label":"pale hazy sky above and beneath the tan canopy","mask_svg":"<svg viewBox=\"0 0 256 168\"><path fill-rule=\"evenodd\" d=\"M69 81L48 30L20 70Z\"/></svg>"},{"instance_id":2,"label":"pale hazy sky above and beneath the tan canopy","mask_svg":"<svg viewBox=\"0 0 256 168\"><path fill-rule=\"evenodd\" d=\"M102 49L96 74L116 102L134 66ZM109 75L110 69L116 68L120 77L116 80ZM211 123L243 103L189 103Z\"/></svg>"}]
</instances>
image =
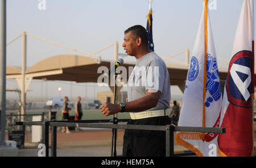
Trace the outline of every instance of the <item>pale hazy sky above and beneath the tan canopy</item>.
<instances>
[{"instance_id":1,"label":"pale hazy sky above and beneath the tan canopy","mask_svg":"<svg viewBox=\"0 0 256 168\"><path fill-rule=\"evenodd\" d=\"M7 42L26 31L68 47L93 53L115 41L122 43L123 31L130 26L141 24L146 27L148 0L45 0L45 10L38 7L42 1L7 1ZM242 0L209 1L212 5L212 10L209 12L217 57L228 60L231 57L242 2ZM203 11L203 0L153 0L152 9L156 53L167 57L187 48L193 48ZM21 38L8 45L7 65L21 66L21 51ZM27 37L27 66L56 54L69 53L79 54ZM119 53L124 53L121 46ZM113 60L114 48L106 49L98 56ZM180 54L175 59L184 61L185 54ZM125 58L126 60L135 61L135 58L129 57ZM223 63L218 61L219 64ZM102 89L97 88L93 91L89 89L92 83L86 85L72 83L71 86L71 82L33 81L27 97L29 99L59 96L57 87L63 87L61 96L76 97L84 93L90 98L96 98L97 91ZM8 80L7 87L18 87L18 85L14 80ZM172 94L181 94L180 90L174 88ZM107 87L103 90L109 91ZM7 98L8 96L14 94L8 93ZM85 97L85 95L80 96Z\"/></svg>"}]
</instances>

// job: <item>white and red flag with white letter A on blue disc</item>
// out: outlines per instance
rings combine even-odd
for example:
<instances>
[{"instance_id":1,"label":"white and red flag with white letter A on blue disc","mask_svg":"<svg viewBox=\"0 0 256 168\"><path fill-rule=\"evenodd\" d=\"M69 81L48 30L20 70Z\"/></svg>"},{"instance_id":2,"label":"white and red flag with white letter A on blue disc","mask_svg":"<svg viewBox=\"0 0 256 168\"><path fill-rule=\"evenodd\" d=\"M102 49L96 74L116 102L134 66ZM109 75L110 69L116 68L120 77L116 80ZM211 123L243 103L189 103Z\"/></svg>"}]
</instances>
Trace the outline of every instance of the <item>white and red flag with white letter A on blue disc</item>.
<instances>
[{"instance_id":1,"label":"white and red flag with white letter A on blue disc","mask_svg":"<svg viewBox=\"0 0 256 168\"><path fill-rule=\"evenodd\" d=\"M244 0L226 78L218 135L220 156L253 154L254 5Z\"/></svg>"}]
</instances>

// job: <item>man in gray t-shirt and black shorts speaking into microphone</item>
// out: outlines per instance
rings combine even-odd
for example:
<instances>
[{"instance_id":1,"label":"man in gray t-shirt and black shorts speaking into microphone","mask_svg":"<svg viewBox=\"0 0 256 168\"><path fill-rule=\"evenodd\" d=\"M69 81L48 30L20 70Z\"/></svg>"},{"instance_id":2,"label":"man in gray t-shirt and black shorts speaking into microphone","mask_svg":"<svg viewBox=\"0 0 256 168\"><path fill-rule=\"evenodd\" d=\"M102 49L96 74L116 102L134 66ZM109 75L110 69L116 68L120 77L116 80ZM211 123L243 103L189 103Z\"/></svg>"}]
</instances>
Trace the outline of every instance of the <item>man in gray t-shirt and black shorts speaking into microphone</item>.
<instances>
[{"instance_id":1,"label":"man in gray t-shirt and black shorts speaking into microphone","mask_svg":"<svg viewBox=\"0 0 256 168\"><path fill-rule=\"evenodd\" d=\"M100 107L105 116L129 112L127 124L167 125L170 120L170 77L166 64L148 47L148 35L141 25L125 31L123 47L127 55L137 59L127 82L128 101L120 104L104 103ZM123 137L123 156L165 156L165 132L126 129Z\"/></svg>"}]
</instances>

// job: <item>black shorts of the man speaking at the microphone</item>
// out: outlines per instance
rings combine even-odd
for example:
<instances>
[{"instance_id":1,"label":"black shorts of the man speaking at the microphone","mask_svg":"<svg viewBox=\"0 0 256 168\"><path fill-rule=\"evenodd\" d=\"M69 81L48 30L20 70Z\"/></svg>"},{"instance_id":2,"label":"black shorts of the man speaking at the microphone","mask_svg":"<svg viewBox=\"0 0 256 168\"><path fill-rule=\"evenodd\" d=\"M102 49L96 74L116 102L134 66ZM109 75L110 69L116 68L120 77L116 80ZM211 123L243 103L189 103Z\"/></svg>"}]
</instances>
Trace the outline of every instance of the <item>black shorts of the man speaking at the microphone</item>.
<instances>
[{"instance_id":1,"label":"black shorts of the man speaking at the microphone","mask_svg":"<svg viewBox=\"0 0 256 168\"><path fill-rule=\"evenodd\" d=\"M127 124L168 125L168 116L130 120ZM164 157L166 156L166 133L164 131L144 131L126 129L123 136L124 157Z\"/></svg>"}]
</instances>

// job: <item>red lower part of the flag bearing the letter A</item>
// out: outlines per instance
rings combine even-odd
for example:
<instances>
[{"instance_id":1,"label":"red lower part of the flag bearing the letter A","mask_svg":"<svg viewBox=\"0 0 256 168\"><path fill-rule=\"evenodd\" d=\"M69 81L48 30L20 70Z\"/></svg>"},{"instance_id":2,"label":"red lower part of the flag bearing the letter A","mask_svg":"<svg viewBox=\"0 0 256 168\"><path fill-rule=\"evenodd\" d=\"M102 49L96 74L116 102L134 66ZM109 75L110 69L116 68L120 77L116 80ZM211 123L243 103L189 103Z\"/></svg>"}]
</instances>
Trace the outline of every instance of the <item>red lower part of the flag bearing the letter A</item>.
<instances>
[{"instance_id":1,"label":"red lower part of the flag bearing the letter A","mask_svg":"<svg viewBox=\"0 0 256 168\"><path fill-rule=\"evenodd\" d=\"M226 128L226 133L218 135L218 146L226 156L251 156L251 108L229 103L221 128Z\"/></svg>"}]
</instances>

